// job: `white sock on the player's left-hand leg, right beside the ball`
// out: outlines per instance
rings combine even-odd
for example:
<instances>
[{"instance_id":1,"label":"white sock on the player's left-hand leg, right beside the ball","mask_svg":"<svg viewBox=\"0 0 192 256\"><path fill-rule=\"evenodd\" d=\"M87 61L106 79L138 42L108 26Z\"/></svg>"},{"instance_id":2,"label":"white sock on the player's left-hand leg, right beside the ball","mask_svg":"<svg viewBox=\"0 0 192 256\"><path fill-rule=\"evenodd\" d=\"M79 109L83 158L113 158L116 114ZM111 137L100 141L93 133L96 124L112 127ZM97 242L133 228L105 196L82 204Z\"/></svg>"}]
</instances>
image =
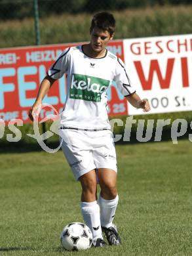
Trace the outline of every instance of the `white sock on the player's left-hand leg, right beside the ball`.
<instances>
[{"instance_id":1,"label":"white sock on the player's left-hand leg, right beside the ball","mask_svg":"<svg viewBox=\"0 0 192 256\"><path fill-rule=\"evenodd\" d=\"M93 238L102 238L102 228L100 223L100 206L96 201L86 203L81 202L81 213L85 224L90 228Z\"/></svg>"}]
</instances>

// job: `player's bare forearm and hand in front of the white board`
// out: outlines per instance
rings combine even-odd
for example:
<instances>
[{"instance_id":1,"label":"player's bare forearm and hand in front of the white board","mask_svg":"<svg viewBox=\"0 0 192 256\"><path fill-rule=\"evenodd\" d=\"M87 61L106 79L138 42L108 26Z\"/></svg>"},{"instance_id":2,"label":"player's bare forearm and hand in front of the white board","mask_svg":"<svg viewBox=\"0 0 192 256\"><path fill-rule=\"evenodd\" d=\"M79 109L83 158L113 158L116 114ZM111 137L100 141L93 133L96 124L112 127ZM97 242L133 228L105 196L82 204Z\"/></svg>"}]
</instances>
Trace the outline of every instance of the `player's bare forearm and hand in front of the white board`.
<instances>
[{"instance_id":1,"label":"player's bare forearm and hand in front of the white board","mask_svg":"<svg viewBox=\"0 0 192 256\"><path fill-rule=\"evenodd\" d=\"M132 104L132 106L134 106L134 108L142 108L144 112L151 110L148 100L146 98L141 100L140 96L138 96L136 93L132 93L125 98L130 104Z\"/></svg>"}]
</instances>

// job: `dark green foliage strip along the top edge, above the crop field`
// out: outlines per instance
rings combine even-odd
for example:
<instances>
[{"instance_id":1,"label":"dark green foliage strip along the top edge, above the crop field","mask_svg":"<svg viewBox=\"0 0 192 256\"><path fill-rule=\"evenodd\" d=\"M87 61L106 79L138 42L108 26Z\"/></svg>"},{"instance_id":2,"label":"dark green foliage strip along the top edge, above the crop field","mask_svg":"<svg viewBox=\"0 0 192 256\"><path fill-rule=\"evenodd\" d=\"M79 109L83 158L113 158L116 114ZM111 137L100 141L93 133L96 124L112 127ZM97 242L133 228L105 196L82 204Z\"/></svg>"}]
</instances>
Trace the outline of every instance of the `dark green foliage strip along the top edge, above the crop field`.
<instances>
[{"instance_id":1,"label":"dark green foliage strip along the top edge, above the crop field","mask_svg":"<svg viewBox=\"0 0 192 256\"><path fill-rule=\"evenodd\" d=\"M62 13L122 11L164 5L186 5L191 0L38 0L41 17ZM0 0L0 20L33 17L33 0Z\"/></svg>"}]
</instances>

